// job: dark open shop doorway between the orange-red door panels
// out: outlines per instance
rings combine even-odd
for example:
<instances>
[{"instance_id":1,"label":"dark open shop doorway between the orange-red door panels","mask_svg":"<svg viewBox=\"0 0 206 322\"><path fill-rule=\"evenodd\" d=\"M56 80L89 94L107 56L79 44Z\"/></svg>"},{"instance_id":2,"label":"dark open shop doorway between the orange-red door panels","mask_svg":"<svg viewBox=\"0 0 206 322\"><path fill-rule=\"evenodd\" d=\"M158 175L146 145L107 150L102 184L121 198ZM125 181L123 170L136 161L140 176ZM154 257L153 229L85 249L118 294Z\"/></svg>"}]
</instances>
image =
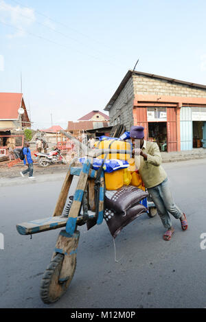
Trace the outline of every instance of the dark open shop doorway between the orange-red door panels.
<instances>
[{"instance_id":1,"label":"dark open shop doorway between the orange-red door panels","mask_svg":"<svg viewBox=\"0 0 206 322\"><path fill-rule=\"evenodd\" d=\"M167 122L148 122L148 141L157 142L160 151L168 151Z\"/></svg>"}]
</instances>

